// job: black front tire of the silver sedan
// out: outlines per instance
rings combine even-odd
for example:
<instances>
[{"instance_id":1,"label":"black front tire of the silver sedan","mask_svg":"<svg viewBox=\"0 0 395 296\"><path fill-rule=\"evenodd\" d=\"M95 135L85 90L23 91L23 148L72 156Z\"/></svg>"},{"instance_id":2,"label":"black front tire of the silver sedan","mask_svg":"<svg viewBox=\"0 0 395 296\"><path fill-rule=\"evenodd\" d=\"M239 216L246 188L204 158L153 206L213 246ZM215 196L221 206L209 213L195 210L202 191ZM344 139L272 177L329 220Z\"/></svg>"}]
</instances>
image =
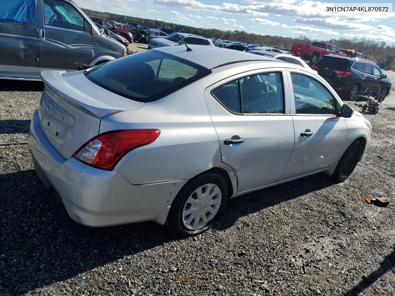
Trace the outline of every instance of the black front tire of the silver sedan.
<instances>
[{"instance_id":1,"label":"black front tire of the silver sedan","mask_svg":"<svg viewBox=\"0 0 395 296\"><path fill-rule=\"evenodd\" d=\"M361 150L361 143L358 141L353 142L347 148L347 150L340 158L339 163L336 166L335 172L333 172L332 177L335 180L343 182L352 174L352 172L354 172L354 169L359 161L359 157L361 156Z\"/></svg>"}]
</instances>

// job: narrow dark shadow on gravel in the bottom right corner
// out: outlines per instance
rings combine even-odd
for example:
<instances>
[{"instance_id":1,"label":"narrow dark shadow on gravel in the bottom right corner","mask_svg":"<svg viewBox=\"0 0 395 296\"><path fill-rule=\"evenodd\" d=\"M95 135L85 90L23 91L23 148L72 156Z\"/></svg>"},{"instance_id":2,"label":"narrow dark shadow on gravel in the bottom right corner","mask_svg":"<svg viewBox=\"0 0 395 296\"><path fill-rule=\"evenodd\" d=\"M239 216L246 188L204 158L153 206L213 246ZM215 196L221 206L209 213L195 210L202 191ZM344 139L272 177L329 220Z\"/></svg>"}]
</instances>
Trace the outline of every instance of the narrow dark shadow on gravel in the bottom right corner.
<instances>
[{"instance_id":1,"label":"narrow dark shadow on gravel in the bottom right corner","mask_svg":"<svg viewBox=\"0 0 395 296\"><path fill-rule=\"evenodd\" d=\"M363 277L357 285L352 287L350 290L344 293L345 296L357 296L361 295L364 290L373 285L380 277L389 271L395 274L395 246L391 253L384 257L383 261L380 262L380 267L368 276Z\"/></svg>"}]
</instances>

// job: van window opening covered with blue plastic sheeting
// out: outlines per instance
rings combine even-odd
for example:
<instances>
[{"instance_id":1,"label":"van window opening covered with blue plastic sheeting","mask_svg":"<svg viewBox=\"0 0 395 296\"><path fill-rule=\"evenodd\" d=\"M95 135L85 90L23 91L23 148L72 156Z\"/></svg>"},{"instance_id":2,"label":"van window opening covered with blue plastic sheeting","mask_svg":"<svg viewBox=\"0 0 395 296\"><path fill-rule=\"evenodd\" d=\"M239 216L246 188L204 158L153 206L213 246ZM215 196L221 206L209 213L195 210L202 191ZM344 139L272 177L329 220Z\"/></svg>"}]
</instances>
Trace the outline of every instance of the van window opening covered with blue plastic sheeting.
<instances>
[{"instance_id":1,"label":"van window opening covered with blue plastic sheeting","mask_svg":"<svg viewBox=\"0 0 395 296\"><path fill-rule=\"evenodd\" d=\"M0 1L0 21L37 26L36 0Z\"/></svg>"}]
</instances>

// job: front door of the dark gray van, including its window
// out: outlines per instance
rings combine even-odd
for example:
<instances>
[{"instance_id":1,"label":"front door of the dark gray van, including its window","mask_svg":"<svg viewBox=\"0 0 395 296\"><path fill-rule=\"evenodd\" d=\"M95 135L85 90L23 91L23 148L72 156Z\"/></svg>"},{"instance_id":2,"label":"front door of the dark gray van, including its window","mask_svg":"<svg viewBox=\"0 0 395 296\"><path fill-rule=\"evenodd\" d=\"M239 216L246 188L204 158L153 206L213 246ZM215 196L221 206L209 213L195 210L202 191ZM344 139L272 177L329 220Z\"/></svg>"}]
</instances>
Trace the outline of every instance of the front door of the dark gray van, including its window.
<instances>
[{"instance_id":1,"label":"front door of the dark gray van, including its window","mask_svg":"<svg viewBox=\"0 0 395 296\"><path fill-rule=\"evenodd\" d=\"M75 62L90 62L92 28L73 2L43 0L39 15L40 71L76 70Z\"/></svg>"}]
</instances>

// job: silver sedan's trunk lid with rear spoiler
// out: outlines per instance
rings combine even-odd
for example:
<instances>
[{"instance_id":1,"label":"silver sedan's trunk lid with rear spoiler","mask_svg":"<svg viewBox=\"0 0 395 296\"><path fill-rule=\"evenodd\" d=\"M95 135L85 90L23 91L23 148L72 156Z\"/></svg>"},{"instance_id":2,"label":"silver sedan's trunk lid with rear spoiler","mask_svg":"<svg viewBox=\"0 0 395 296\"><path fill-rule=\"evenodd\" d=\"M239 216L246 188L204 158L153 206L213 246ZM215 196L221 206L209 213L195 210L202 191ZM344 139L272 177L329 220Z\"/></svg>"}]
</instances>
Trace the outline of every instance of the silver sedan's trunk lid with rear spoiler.
<instances>
[{"instance_id":1,"label":"silver sedan's trunk lid with rear spoiler","mask_svg":"<svg viewBox=\"0 0 395 296\"><path fill-rule=\"evenodd\" d=\"M98 135L103 117L144 105L92 83L83 71L48 70L41 77L45 85L38 109L41 129L66 159Z\"/></svg>"}]
</instances>

